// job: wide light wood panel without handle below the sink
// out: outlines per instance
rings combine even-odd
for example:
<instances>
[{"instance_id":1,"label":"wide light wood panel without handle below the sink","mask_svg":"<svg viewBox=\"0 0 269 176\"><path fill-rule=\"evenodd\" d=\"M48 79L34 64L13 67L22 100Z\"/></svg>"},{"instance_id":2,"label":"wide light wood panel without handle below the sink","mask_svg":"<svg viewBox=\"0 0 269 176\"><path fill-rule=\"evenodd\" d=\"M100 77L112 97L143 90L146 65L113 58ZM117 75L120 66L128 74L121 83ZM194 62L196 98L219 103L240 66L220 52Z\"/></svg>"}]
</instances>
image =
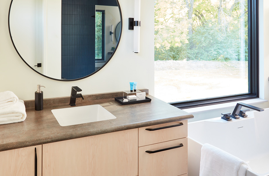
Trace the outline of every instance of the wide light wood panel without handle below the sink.
<instances>
[{"instance_id":1,"label":"wide light wood panel without handle below the sink","mask_svg":"<svg viewBox=\"0 0 269 176\"><path fill-rule=\"evenodd\" d=\"M43 145L43 176L136 176L138 129Z\"/></svg>"}]
</instances>

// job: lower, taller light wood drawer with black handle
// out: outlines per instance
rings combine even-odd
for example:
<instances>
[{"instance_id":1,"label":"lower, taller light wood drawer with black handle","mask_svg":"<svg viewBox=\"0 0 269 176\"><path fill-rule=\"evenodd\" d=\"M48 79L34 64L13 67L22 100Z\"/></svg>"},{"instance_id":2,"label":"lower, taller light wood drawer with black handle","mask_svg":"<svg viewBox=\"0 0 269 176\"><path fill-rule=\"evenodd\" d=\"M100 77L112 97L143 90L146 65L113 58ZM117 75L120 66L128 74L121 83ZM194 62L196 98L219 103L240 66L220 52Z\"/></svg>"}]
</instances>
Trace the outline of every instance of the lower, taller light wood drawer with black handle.
<instances>
[{"instance_id":1,"label":"lower, taller light wood drawer with black handle","mask_svg":"<svg viewBox=\"0 0 269 176\"><path fill-rule=\"evenodd\" d=\"M168 149L171 147L182 147ZM156 152L156 150L167 149ZM146 153L154 151L156 153ZM187 138L147 145L138 148L138 175L139 176L178 176L186 174L187 165Z\"/></svg>"}]
</instances>

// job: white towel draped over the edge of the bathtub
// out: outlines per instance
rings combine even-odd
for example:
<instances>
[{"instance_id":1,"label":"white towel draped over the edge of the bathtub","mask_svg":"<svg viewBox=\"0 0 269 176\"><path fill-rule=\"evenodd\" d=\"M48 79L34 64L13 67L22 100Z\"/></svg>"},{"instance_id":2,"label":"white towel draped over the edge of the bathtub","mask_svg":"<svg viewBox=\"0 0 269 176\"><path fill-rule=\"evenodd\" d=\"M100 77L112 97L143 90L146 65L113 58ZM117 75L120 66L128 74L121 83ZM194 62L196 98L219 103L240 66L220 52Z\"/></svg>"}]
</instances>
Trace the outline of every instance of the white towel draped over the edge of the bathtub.
<instances>
[{"instance_id":1,"label":"white towel draped over the edge of the bathtub","mask_svg":"<svg viewBox=\"0 0 269 176\"><path fill-rule=\"evenodd\" d=\"M204 144L201 149L199 176L245 176L249 165L213 145Z\"/></svg>"}]
</instances>

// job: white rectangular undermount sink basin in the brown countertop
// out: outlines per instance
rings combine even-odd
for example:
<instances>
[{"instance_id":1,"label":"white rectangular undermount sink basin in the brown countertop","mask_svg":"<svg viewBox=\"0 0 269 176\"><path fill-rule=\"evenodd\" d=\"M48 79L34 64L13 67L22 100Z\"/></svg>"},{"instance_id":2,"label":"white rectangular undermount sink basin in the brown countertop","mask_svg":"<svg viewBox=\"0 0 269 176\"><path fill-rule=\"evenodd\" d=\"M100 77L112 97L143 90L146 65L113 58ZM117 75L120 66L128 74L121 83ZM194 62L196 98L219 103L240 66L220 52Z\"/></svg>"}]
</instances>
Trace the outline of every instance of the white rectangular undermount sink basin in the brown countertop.
<instances>
[{"instance_id":1,"label":"white rectangular undermount sink basin in the brown countertop","mask_svg":"<svg viewBox=\"0 0 269 176\"><path fill-rule=\"evenodd\" d=\"M52 109L51 112L61 126L116 119L113 114L99 104Z\"/></svg>"}]
</instances>

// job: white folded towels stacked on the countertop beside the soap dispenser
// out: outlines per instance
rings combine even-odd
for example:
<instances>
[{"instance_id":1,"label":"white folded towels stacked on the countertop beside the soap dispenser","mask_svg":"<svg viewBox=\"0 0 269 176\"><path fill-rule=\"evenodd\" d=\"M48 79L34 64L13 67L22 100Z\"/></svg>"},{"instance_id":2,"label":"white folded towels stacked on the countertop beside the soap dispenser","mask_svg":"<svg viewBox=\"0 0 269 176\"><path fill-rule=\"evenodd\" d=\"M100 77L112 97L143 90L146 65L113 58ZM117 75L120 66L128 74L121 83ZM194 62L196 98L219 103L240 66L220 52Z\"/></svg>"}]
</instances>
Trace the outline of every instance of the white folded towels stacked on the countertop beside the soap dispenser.
<instances>
[{"instance_id":1,"label":"white folded towels stacked on the countertop beside the soap dispenser","mask_svg":"<svg viewBox=\"0 0 269 176\"><path fill-rule=\"evenodd\" d=\"M0 92L0 124L21 122L25 118L24 102L13 92Z\"/></svg>"}]
</instances>

